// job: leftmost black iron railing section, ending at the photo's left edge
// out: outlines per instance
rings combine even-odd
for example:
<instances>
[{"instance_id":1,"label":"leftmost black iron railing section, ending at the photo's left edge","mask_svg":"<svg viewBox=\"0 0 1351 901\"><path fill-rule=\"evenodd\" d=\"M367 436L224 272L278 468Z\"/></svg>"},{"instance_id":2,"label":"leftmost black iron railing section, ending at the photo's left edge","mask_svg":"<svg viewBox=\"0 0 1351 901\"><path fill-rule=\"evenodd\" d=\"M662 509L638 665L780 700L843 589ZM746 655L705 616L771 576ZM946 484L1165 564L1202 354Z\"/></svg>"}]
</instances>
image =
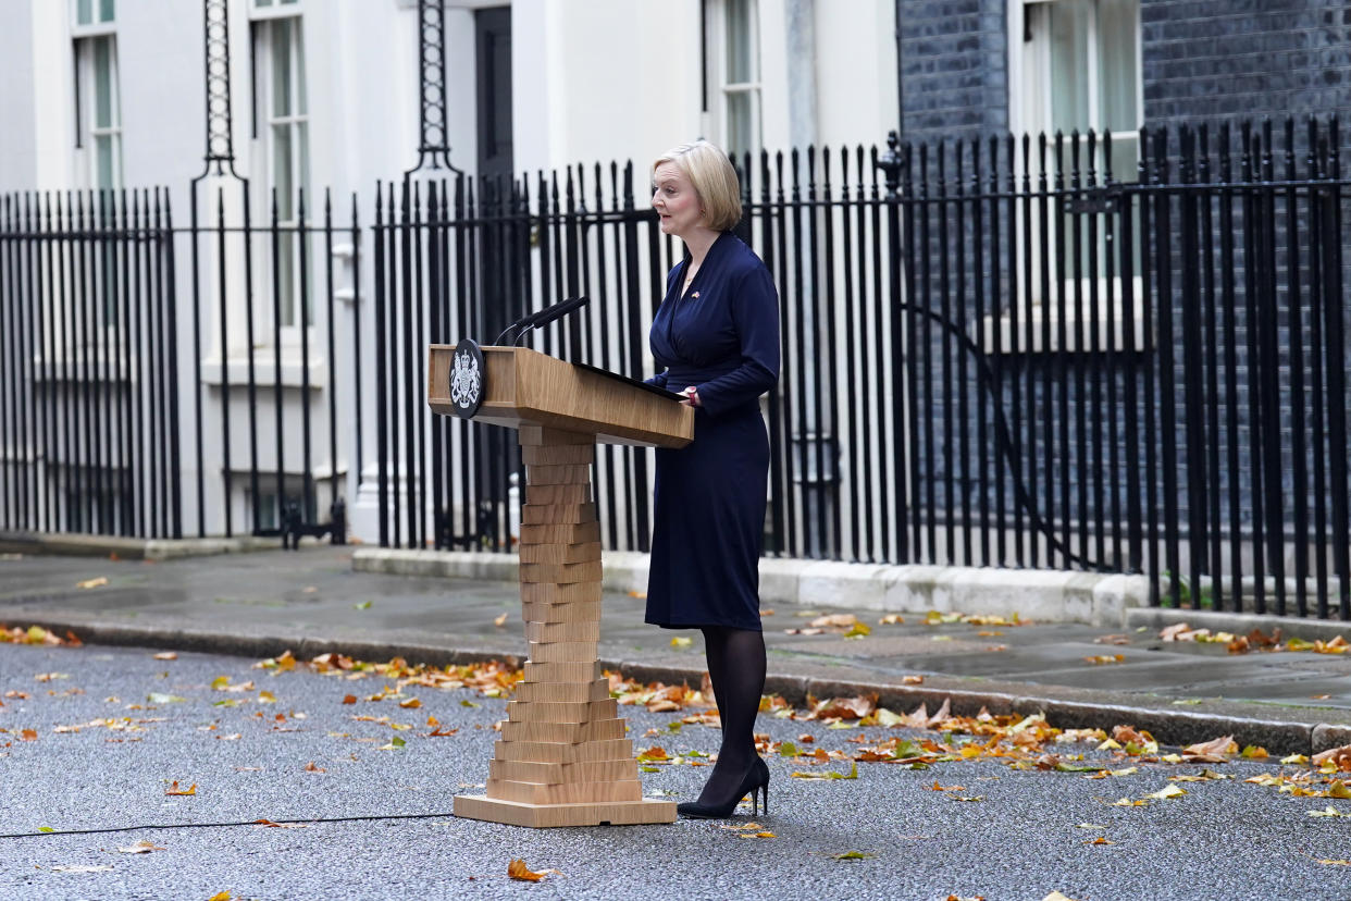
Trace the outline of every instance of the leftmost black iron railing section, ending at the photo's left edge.
<instances>
[{"instance_id":1,"label":"leftmost black iron railing section, ending at the photo's left edge","mask_svg":"<svg viewBox=\"0 0 1351 901\"><path fill-rule=\"evenodd\" d=\"M0 199L0 528L182 532L162 190Z\"/></svg>"}]
</instances>

